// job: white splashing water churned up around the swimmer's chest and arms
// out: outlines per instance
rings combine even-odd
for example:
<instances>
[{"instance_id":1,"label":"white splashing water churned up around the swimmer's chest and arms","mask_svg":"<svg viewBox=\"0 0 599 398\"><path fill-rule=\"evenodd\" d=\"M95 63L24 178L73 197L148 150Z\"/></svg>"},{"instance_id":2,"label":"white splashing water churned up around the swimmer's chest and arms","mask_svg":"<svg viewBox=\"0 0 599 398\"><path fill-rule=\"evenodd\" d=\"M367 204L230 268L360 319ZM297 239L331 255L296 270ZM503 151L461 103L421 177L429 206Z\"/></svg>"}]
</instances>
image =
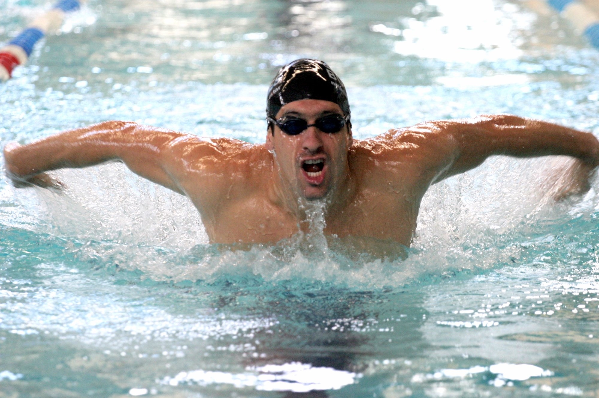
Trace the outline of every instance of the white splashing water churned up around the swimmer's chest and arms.
<instances>
[{"instance_id":1,"label":"white splashing water churned up around the swimmer's chest and arms","mask_svg":"<svg viewBox=\"0 0 599 398\"><path fill-rule=\"evenodd\" d=\"M523 241L544 239L551 225L568 222L574 211L583 218L591 215L598 206L594 189L562 204L554 204L543 190L555 162L562 161L495 158L433 186L422 202L413 248L395 244L397 255L386 257L364 252L365 243L375 248L382 244L376 240L325 236L325 201L301 204L306 233L273 246L239 250L208 245L201 220L186 198L141 180L122 165L59 171L69 187L63 195L7 189L20 198L23 209L46 218L33 229L70 240L75 258L138 270L143 278L215 281L246 272L269 281L310 275L355 287L398 287L428 276L513 263L524 255ZM531 175L530 168L541 172ZM108 183L90 185L94 180Z\"/></svg>"}]
</instances>

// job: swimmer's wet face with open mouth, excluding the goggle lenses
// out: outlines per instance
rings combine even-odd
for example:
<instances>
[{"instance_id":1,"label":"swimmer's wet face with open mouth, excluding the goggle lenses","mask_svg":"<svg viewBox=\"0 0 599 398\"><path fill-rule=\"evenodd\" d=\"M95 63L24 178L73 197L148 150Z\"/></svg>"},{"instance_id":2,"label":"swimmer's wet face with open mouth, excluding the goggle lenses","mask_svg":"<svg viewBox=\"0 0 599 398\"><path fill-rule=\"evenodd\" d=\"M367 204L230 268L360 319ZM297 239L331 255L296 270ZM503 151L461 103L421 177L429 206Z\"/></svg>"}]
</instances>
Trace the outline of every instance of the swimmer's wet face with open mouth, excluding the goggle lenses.
<instances>
[{"instance_id":1,"label":"swimmer's wet face with open mouth, excluding the goggle lenses","mask_svg":"<svg viewBox=\"0 0 599 398\"><path fill-rule=\"evenodd\" d=\"M330 114L343 116L339 105L319 99L301 99L280 108L275 119L295 117L308 124ZM299 197L308 200L325 197L347 177L347 151L352 132L346 124L339 132L327 133L311 126L298 135L288 135L277 125L267 132L267 147L275 155L275 172L280 181Z\"/></svg>"}]
</instances>

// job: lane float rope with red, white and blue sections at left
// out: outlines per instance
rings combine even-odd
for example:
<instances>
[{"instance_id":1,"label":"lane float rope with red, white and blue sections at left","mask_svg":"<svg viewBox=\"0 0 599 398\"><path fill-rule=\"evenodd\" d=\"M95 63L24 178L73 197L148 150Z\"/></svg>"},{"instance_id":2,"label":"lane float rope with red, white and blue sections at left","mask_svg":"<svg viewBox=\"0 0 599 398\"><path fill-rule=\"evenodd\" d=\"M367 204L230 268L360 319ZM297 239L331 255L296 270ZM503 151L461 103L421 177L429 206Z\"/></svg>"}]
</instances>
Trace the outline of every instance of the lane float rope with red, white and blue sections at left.
<instances>
[{"instance_id":1,"label":"lane float rope with red, white and blue sections at left","mask_svg":"<svg viewBox=\"0 0 599 398\"><path fill-rule=\"evenodd\" d=\"M56 31L62 26L65 14L78 10L81 2L78 0L60 0L50 11L43 14L23 29L17 37L9 41L7 46L0 49L0 80L10 79L14 68L25 65L35 43L50 31Z\"/></svg>"}]
</instances>

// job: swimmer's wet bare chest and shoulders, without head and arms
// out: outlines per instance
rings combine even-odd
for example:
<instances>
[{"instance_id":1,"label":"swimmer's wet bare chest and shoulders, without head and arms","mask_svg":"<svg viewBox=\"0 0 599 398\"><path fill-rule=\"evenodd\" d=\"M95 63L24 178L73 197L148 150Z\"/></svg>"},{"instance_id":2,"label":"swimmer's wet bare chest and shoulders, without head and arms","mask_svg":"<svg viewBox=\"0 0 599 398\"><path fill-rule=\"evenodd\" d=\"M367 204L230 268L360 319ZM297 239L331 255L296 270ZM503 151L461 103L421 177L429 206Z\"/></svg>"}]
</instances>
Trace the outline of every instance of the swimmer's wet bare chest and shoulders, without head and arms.
<instances>
[{"instance_id":1,"label":"swimmer's wet bare chest and shoulders, without head and arms","mask_svg":"<svg viewBox=\"0 0 599 398\"><path fill-rule=\"evenodd\" d=\"M356 189L343 205L328 209L325 234L409 246L431 177L395 133L354 141L349 170ZM274 243L307 231L305 215L289 211L273 193L274 159L265 146L226 143L226 159L196 159L192 168L202 173L183 186L211 242Z\"/></svg>"}]
</instances>

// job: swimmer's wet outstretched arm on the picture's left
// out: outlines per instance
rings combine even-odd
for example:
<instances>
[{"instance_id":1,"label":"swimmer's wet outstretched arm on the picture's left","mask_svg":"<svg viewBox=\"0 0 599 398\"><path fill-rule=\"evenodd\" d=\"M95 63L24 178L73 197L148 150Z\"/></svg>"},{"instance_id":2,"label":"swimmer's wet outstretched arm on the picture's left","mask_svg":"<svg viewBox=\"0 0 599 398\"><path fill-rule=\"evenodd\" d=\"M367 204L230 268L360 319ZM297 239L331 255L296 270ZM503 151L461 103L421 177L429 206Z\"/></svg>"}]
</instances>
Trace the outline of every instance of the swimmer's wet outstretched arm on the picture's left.
<instances>
[{"instance_id":1,"label":"swimmer's wet outstretched arm on the picture's left","mask_svg":"<svg viewBox=\"0 0 599 398\"><path fill-rule=\"evenodd\" d=\"M10 143L4 148L4 159L16 186L52 186L45 171L119 160L134 173L183 194L171 173L177 160L170 150L182 137L186 135L133 122L102 122L31 144Z\"/></svg>"}]
</instances>

